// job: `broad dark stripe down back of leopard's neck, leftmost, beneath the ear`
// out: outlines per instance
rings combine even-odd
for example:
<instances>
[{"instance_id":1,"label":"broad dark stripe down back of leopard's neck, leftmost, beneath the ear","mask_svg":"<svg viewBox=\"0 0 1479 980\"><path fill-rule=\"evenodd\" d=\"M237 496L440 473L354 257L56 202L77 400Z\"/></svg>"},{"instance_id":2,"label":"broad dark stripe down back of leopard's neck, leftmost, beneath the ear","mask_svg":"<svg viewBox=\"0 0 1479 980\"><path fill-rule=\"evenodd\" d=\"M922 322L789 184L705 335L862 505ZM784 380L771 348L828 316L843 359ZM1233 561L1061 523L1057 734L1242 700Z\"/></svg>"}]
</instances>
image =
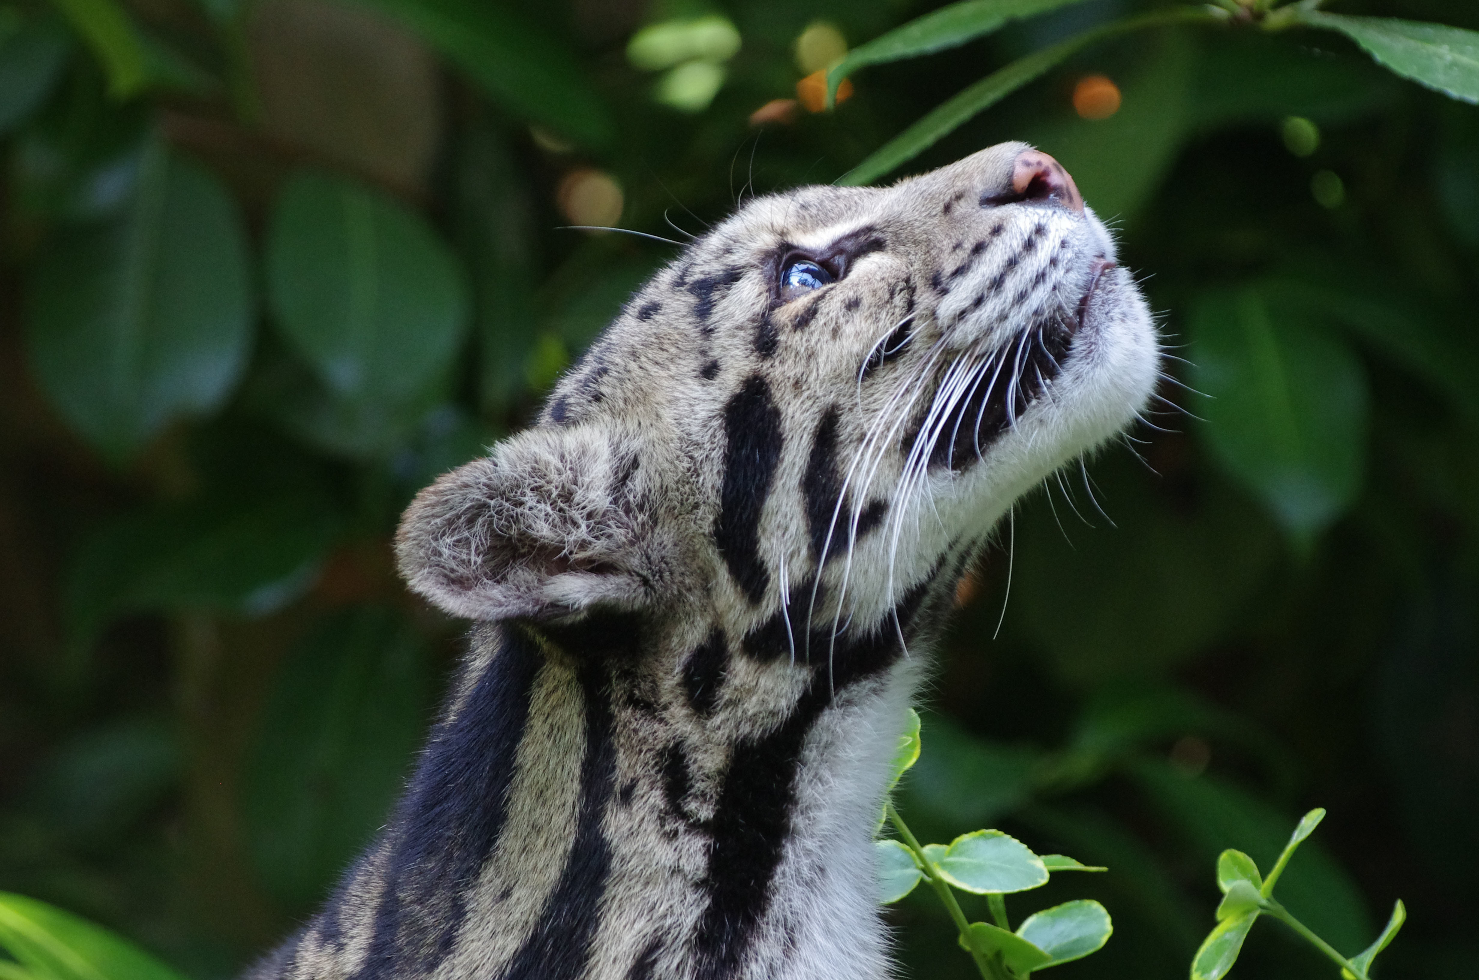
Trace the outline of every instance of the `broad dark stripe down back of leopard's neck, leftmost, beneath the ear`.
<instances>
[{"instance_id":1,"label":"broad dark stripe down back of leopard's neck, leftmost, beneath the ear","mask_svg":"<svg viewBox=\"0 0 1479 980\"><path fill-rule=\"evenodd\" d=\"M498 640L495 629L479 629L475 647ZM385 891L356 980L430 973L451 952L467 913L463 896L503 830L540 663L531 637L503 629L457 716L445 718L448 709L432 728L390 825Z\"/></svg>"}]
</instances>

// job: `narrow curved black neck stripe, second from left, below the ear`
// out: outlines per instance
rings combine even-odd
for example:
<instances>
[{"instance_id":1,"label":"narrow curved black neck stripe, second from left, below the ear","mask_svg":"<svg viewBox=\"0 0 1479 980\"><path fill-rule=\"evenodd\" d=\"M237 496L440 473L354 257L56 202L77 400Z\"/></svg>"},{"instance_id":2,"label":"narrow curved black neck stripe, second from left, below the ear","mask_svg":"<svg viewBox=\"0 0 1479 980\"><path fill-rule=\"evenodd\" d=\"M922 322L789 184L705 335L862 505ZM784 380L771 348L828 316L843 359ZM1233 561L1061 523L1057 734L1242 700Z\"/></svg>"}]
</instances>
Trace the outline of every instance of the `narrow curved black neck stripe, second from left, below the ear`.
<instances>
[{"instance_id":1,"label":"narrow curved black neck stripe, second from left, below the ear","mask_svg":"<svg viewBox=\"0 0 1479 980\"><path fill-rule=\"evenodd\" d=\"M602 823L617 782L617 743L611 682L602 665L581 663L578 678L586 703L586 758L580 771L575 839L534 931L500 980L580 980L589 976L592 940L600 924L600 900L611 870L611 842ZM472 878L464 879L461 888L467 881Z\"/></svg>"}]
</instances>

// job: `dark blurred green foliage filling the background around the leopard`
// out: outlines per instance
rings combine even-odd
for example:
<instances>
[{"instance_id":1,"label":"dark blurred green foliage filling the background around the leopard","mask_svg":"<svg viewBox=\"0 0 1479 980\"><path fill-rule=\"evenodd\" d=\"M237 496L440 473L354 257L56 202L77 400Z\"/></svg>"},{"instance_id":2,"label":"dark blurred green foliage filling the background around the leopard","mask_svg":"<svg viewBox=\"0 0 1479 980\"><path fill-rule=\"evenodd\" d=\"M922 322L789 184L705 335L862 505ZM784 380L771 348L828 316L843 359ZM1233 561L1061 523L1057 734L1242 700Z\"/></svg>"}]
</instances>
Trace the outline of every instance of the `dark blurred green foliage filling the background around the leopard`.
<instances>
[{"instance_id":1,"label":"dark blurred green foliage filling the background around the leopard","mask_svg":"<svg viewBox=\"0 0 1479 980\"><path fill-rule=\"evenodd\" d=\"M0 0L0 890L201 980L265 950L383 822L461 644L392 574L401 508L674 252L565 226L701 232L1162 6L873 59L812 114L808 27L862 50L929 4ZM679 61L633 64L661 25ZM908 163L1056 155L1179 358L961 589L899 791L927 839L1112 869L1016 899L1112 910L1063 980L1185 976L1205 869L1268 867L1313 802L1290 912L1353 955L1402 896L1383 977L1479 956L1479 110L1325 27L1106 31ZM892 915L913 976L970 976L927 896ZM1328 970L1269 928L1233 976Z\"/></svg>"}]
</instances>

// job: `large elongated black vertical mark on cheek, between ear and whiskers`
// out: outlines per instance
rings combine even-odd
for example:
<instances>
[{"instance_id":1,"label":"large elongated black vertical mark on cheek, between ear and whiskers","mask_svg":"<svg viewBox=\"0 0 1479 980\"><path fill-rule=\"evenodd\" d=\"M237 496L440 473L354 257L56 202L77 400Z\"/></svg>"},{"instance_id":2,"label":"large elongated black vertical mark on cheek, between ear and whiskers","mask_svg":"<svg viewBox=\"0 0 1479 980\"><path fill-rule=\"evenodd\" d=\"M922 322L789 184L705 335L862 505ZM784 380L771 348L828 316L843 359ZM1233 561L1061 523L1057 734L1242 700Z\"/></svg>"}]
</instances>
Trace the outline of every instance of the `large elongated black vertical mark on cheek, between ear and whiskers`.
<instances>
[{"instance_id":1,"label":"large elongated black vertical mark on cheek, between ear and whiskers","mask_svg":"<svg viewBox=\"0 0 1479 980\"><path fill-rule=\"evenodd\" d=\"M771 585L760 563L760 514L781 462L781 410L765 377L751 375L725 406L725 480L714 542L735 583L759 603Z\"/></svg>"}]
</instances>

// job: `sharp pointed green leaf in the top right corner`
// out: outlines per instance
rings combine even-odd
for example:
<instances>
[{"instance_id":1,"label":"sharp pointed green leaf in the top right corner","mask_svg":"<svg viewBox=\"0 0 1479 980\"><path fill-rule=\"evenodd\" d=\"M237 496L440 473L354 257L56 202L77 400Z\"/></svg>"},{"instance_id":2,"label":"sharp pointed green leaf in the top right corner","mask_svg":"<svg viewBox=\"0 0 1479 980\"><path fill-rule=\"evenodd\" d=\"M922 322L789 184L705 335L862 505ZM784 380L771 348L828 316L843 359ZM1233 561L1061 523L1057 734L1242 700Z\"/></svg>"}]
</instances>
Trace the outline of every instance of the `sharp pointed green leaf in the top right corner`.
<instances>
[{"instance_id":1,"label":"sharp pointed green leaf in the top right corner","mask_svg":"<svg viewBox=\"0 0 1479 980\"><path fill-rule=\"evenodd\" d=\"M1378 64L1451 99L1479 104L1479 33L1444 24L1293 10L1297 24L1340 31Z\"/></svg>"}]
</instances>

